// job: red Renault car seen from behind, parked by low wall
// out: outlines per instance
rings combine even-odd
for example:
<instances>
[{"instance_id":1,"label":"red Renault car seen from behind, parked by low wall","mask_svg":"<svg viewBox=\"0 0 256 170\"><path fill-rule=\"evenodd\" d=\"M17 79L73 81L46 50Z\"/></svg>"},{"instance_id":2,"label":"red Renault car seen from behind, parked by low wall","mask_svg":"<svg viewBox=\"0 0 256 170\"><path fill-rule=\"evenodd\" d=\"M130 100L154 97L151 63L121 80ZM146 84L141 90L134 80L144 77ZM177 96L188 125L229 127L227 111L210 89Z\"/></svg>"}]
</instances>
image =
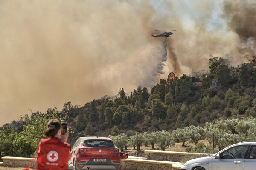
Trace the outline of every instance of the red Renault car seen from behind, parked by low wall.
<instances>
[{"instance_id":1,"label":"red Renault car seen from behind, parked by low wall","mask_svg":"<svg viewBox=\"0 0 256 170\"><path fill-rule=\"evenodd\" d=\"M73 170L120 170L119 149L110 138L81 137L71 148L68 168Z\"/></svg>"}]
</instances>

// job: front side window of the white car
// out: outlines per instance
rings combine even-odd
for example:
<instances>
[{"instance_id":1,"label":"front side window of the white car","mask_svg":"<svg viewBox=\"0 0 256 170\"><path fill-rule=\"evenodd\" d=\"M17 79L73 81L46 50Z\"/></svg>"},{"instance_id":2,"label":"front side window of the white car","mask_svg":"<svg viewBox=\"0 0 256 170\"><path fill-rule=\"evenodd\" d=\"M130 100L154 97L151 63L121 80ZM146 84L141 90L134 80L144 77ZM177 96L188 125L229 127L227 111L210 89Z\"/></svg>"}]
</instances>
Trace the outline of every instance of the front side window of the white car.
<instances>
[{"instance_id":1,"label":"front side window of the white car","mask_svg":"<svg viewBox=\"0 0 256 170\"><path fill-rule=\"evenodd\" d=\"M222 153L221 159L244 158L248 145L239 145L231 147Z\"/></svg>"}]
</instances>

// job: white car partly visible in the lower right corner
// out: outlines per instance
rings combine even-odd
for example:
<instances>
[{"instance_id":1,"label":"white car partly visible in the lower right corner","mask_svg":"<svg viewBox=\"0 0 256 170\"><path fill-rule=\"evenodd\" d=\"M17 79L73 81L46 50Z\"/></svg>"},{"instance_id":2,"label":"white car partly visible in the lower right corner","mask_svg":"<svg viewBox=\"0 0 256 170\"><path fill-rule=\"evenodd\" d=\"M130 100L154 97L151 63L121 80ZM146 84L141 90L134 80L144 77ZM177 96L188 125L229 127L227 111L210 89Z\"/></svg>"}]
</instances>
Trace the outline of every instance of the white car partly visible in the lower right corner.
<instances>
[{"instance_id":1,"label":"white car partly visible in the lower right corner","mask_svg":"<svg viewBox=\"0 0 256 170\"><path fill-rule=\"evenodd\" d=\"M256 141L240 142L213 156L192 159L181 170L256 170Z\"/></svg>"}]
</instances>

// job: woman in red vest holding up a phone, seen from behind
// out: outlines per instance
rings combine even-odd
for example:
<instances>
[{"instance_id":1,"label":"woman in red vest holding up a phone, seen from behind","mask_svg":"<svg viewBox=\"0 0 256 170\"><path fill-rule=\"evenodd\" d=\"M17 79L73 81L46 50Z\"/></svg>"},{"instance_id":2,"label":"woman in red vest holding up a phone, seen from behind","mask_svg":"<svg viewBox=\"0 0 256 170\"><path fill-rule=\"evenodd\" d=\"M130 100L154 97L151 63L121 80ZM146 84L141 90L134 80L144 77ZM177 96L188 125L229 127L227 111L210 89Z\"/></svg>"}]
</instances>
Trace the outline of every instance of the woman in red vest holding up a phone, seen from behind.
<instances>
[{"instance_id":1,"label":"woman in red vest holding up a phone, seen from behind","mask_svg":"<svg viewBox=\"0 0 256 170\"><path fill-rule=\"evenodd\" d=\"M70 159L70 144L66 143L67 133L61 135L62 126L57 119L48 123L44 134L48 139L42 139L38 145L38 170L67 170L67 161Z\"/></svg>"}]
</instances>

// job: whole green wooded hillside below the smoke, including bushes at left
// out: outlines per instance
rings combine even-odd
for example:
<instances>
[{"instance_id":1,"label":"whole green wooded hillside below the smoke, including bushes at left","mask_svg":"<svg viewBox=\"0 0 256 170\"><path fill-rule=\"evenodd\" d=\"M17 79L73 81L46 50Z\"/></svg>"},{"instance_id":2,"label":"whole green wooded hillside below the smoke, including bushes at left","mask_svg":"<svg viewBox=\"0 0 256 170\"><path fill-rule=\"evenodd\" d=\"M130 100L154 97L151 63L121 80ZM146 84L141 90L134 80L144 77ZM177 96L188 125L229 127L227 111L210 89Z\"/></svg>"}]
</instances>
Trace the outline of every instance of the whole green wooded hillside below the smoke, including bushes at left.
<instances>
[{"instance_id":1,"label":"whole green wooded hillside below the smoke, including bushes at left","mask_svg":"<svg viewBox=\"0 0 256 170\"><path fill-rule=\"evenodd\" d=\"M200 75L177 77L172 72L150 90L138 87L127 94L121 88L116 97L104 96L82 107L67 102L61 111L49 108L45 113L21 117L1 128L0 153L2 156L31 155L38 141L44 138L42 131L52 118L68 122L71 144L83 135L126 133L129 137L135 132L155 131L167 134L177 128L205 127L206 122L222 119L255 118L256 62L236 67L228 63L226 59L214 57L209 59L209 71ZM236 132L239 131L234 130Z\"/></svg>"}]
</instances>

